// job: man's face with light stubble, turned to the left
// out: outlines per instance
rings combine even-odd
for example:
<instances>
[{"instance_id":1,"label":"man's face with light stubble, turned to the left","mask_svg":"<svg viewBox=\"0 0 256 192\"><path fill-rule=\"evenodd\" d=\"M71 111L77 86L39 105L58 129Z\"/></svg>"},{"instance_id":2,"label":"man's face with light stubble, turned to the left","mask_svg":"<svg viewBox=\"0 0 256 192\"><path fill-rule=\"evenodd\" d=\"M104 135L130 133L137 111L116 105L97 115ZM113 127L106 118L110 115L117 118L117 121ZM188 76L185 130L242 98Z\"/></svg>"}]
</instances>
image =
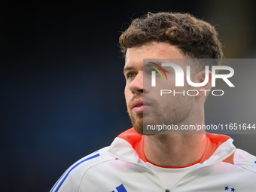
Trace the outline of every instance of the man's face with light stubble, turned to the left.
<instances>
[{"instance_id":1,"label":"man's face with light stubble, turned to the left","mask_svg":"<svg viewBox=\"0 0 256 192\"><path fill-rule=\"evenodd\" d=\"M126 78L125 98L135 130L143 134L143 123L184 123L190 116L193 97L182 94L160 96L160 90L168 87L168 90L181 92L190 87L187 84L175 87L175 72L171 67L164 69L168 80L157 84L154 89L148 84L143 86L143 59L184 59L184 56L177 47L167 42L152 41L127 50L123 69ZM178 65L185 69L183 63Z\"/></svg>"}]
</instances>

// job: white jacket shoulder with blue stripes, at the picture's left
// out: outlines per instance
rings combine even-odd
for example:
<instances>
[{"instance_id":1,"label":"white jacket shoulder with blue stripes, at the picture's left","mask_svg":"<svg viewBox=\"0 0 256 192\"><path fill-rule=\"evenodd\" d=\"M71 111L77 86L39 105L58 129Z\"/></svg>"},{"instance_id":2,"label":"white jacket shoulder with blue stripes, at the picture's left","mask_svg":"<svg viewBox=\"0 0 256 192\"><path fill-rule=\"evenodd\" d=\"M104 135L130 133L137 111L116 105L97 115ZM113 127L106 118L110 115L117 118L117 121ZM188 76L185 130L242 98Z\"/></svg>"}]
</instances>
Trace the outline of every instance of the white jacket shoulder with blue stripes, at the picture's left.
<instances>
[{"instance_id":1,"label":"white jacket shoulder with blue stripes, at the picture's left","mask_svg":"<svg viewBox=\"0 0 256 192\"><path fill-rule=\"evenodd\" d=\"M75 162L63 173L59 180L56 181L56 184L54 184L50 192L78 191L81 179L88 169L99 163L115 160L114 157L111 157L111 155L108 154L108 148L109 147L102 148Z\"/></svg>"}]
</instances>

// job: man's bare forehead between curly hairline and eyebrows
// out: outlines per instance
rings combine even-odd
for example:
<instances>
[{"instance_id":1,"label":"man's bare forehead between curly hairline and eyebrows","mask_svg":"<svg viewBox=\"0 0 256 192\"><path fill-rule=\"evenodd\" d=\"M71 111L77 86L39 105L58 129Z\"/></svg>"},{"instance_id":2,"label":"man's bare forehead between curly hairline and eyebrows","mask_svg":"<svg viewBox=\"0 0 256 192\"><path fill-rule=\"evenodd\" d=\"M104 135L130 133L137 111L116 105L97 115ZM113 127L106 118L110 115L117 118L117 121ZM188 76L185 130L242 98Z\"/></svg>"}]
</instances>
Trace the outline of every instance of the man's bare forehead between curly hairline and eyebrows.
<instances>
[{"instance_id":1,"label":"man's bare forehead between curly hairline and eyebrows","mask_svg":"<svg viewBox=\"0 0 256 192\"><path fill-rule=\"evenodd\" d=\"M184 59L184 55L169 42L151 41L127 49L125 67L143 65L143 59Z\"/></svg>"}]
</instances>

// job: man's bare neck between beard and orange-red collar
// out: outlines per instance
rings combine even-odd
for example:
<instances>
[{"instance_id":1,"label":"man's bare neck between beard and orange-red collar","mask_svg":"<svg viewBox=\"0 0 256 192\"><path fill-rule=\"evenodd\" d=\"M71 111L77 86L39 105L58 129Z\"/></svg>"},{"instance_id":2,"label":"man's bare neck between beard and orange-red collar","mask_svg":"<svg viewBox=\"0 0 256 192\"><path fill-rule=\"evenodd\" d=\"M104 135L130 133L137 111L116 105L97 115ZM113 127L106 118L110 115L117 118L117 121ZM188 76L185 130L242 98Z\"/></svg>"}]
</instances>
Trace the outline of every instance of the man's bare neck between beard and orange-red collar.
<instances>
[{"instance_id":1,"label":"man's bare neck between beard and orange-red collar","mask_svg":"<svg viewBox=\"0 0 256 192\"><path fill-rule=\"evenodd\" d=\"M145 157L166 167L189 166L203 157L206 134L169 134L145 136Z\"/></svg>"}]
</instances>

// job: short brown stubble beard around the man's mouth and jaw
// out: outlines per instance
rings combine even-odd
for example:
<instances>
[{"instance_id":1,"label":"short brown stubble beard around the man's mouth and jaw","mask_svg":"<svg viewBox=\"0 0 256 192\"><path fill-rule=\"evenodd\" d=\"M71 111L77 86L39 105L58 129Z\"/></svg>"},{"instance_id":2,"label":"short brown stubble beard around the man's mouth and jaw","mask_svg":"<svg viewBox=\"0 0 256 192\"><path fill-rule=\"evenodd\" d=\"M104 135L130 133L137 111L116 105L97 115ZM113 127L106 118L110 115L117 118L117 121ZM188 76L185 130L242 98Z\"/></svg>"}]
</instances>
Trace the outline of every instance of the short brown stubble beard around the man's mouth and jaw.
<instances>
[{"instance_id":1,"label":"short brown stubble beard around the man's mouth and jaw","mask_svg":"<svg viewBox=\"0 0 256 192\"><path fill-rule=\"evenodd\" d=\"M174 98L174 97L173 97ZM191 96L177 96L172 102L166 103L160 107L160 103L151 99L145 101L151 103L150 110L143 111L142 113L135 113L130 107L134 100L128 105L128 113L133 123L133 127L137 133L141 135L155 135L166 134L166 130L148 130L147 126L157 125L181 125L190 116L192 108ZM140 98L142 99L142 98ZM159 101L159 100L158 100ZM167 130L167 134L175 134L177 131Z\"/></svg>"}]
</instances>

